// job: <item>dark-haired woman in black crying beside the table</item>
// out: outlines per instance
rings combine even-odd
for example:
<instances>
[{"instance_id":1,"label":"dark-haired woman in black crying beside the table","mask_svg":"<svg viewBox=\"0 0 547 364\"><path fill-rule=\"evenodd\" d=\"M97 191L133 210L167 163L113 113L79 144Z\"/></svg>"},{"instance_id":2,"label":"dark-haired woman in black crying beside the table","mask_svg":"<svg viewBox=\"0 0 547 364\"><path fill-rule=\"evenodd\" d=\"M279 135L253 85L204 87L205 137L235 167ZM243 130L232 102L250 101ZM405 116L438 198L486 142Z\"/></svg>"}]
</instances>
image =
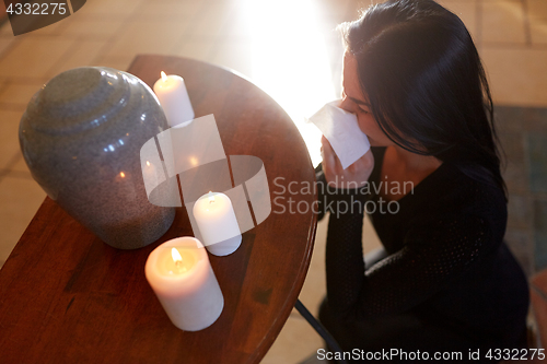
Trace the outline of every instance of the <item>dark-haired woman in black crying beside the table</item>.
<instances>
[{"instance_id":1,"label":"dark-haired woman in black crying beside the table","mask_svg":"<svg viewBox=\"0 0 547 364\"><path fill-rule=\"evenodd\" d=\"M490 349L525 348L528 289L503 243L492 101L469 33L434 1L393 0L346 24L345 40L340 107L372 149L342 169L323 139L318 180L330 200L375 207L385 254L363 262L362 209L330 211L322 322L344 351L479 350L492 363Z\"/></svg>"}]
</instances>

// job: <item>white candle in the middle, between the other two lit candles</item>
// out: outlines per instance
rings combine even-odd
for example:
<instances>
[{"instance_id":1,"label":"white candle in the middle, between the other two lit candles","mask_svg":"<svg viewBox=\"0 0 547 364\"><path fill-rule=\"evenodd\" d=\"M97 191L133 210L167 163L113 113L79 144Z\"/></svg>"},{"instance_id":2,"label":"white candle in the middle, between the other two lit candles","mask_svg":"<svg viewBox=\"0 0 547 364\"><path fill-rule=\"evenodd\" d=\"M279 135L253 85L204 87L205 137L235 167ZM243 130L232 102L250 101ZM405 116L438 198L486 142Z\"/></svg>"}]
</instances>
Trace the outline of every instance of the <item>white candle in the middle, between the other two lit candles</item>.
<instances>
[{"instance_id":1,"label":"white candle in the middle, between the other two lit candles","mask_svg":"<svg viewBox=\"0 0 547 364\"><path fill-rule=\"evenodd\" d=\"M228 256L240 247L240 225L228 196L220 192L203 195L194 204L193 213L209 253Z\"/></svg>"}]
</instances>

